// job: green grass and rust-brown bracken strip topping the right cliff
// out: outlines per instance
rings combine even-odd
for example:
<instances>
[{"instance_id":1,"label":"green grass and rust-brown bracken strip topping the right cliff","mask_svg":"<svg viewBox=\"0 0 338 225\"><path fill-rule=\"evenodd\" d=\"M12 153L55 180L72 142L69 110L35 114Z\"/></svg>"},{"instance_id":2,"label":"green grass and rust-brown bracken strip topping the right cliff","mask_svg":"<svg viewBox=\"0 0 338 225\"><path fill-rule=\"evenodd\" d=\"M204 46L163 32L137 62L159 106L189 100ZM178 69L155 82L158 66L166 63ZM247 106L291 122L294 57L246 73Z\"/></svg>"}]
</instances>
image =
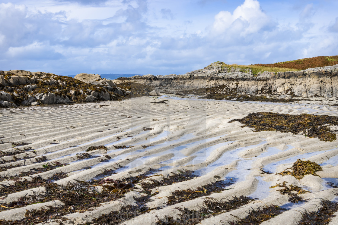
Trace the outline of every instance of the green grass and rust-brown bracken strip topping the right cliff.
<instances>
[{"instance_id":1,"label":"green grass and rust-brown bracken strip topping the right cliff","mask_svg":"<svg viewBox=\"0 0 338 225\"><path fill-rule=\"evenodd\" d=\"M245 69L251 69L253 74L258 74L259 72L264 71L277 73L277 72L299 71L307 68L336 65L338 64L338 56L317 56L312 58L297 59L286 62L276 62L270 64L251 64L247 66L237 64L226 64L224 62L218 63L221 64L221 68L224 67L241 68L241 71L244 71Z\"/></svg>"}]
</instances>

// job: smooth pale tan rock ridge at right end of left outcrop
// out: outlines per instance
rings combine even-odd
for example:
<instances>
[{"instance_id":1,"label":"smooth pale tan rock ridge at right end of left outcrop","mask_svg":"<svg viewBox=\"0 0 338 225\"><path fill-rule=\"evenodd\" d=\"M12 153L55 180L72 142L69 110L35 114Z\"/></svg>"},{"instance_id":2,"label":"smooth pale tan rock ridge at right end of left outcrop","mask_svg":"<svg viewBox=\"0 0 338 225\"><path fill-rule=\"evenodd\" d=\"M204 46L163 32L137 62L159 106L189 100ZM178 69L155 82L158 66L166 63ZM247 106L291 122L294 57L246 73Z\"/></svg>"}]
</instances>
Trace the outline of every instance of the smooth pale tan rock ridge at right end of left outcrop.
<instances>
[{"instance_id":1,"label":"smooth pale tan rock ridge at right end of left outcrop","mask_svg":"<svg viewBox=\"0 0 338 225\"><path fill-rule=\"evenodd\" d=\"M119 95L126 96L127 94L125 90L118 88L112 80L101 78L98 74L78 74L74 78L87 84L102 85L105 89Z\"/></svg>"}]
</instances>

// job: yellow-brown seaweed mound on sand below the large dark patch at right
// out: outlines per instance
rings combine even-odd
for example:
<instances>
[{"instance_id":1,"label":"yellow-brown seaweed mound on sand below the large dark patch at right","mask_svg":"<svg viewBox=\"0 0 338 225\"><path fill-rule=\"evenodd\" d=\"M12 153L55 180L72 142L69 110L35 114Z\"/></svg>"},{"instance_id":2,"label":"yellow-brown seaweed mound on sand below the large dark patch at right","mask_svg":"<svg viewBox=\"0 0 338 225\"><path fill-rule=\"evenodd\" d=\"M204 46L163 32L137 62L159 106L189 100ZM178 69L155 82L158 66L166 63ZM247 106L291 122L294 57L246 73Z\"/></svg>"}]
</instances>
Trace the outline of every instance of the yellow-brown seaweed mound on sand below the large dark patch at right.
<instances>
[{"instance_id":1,"label":"yellow-brown seaweed mound on sand below the large dark patch at right","mask_svg":"<svg viewBox=\"0 0 338 225\"><path fill-rule=\"evenodd\" d=\"M291 169L291 171L288 169ZM291 175L291 176L296 177L296 179L299 180L307 174L318 176L316 172L323 171L321 166L318 165L317 163L311 162L310 160L302 161L300 159L297 159L297 161L292 164L292 167L288 169L286 169L283 172L277 173L277 174L281 174L283 176Z\"/></svg>"}]
</instances>

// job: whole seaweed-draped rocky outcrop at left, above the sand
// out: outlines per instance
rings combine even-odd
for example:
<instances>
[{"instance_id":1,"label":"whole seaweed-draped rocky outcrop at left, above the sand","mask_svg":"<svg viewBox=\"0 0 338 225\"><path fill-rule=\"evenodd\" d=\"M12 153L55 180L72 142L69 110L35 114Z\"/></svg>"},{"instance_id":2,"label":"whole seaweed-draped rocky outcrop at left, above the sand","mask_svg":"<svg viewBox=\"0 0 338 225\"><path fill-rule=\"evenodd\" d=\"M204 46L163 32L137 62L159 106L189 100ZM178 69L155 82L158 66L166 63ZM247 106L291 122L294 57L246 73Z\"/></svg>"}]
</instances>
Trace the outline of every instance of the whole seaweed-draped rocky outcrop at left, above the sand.
<instances>
[{"instance_id":1,"label":"whole seaweed-draped rocky outcrop at left, above the sand","mask_svg":"<svg viewBox=\"0 0 338 225\"><path fill-rule=\"evenodd\" d=\"M121 100L126 95L111 80L93 83L44 72L0 71L0 107Z\"/></svg>"}]
</instances>

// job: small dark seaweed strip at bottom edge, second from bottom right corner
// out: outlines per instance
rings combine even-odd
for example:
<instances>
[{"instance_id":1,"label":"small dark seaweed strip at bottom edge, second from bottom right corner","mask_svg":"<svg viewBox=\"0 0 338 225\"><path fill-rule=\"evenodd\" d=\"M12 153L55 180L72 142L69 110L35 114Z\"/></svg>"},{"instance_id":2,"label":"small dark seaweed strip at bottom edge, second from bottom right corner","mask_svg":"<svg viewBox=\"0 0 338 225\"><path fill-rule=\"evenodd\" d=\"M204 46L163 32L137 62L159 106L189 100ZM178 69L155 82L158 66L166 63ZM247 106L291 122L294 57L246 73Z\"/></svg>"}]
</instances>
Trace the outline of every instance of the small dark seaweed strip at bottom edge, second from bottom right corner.
<instances>
[{"instance_id":1,"label":"small dark seaweed strip at bottom edge, second from bottom right corner","mask_svg":"<svg viewBox=\"0 0 338 225\"><path fill-rule=\"evenodd\" d=\"M238 218L235 222L230 222L231 225L254 225L267 221L275 216L286 211L277 205L271 205L268 207L259 207L257 210L250 211L244 219Z\"/></svg>"}]
</instances>

